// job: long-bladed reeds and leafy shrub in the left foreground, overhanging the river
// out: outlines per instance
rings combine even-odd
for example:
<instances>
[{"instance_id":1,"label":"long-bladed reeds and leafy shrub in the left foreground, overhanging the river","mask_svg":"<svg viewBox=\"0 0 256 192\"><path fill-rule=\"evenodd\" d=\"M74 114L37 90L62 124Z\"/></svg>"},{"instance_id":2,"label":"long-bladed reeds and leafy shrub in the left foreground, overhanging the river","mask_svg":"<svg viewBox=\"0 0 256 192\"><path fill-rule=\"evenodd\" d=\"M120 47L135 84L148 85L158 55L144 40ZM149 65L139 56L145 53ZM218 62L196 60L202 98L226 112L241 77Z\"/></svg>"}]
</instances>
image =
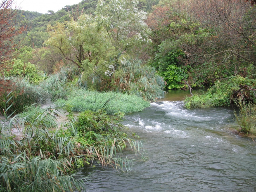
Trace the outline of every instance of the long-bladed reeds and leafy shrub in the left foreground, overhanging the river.
<instances>
[{"instance_id":1,"label":"long-bladed reeds and leafy shrub in the left foreground, overhanging the river","mask_svg":"<svg viewBox=\"0 0 256 192\"><path fill-rule=\"evenodd\" d=\"M122 149L128 145L134 152L140 152L143 141L126 138L118 126L119 117L113 120L101 112L97 117L95 113L88 112L83 115L85 119L90 117L88 121L77 124L76 119L73 119L66 124L67 129L50 131L51 123L42 121L53 114L50 111L30 107L23 114L7 117L0 123L1 191L85 190L83 180L76 178L74 173L76 168L93 160L123 171L132 168L131 160L120 158ZM84 122L92 123L91 118L96 118L93 126L100 132L92 134L95 140L89 145L88 131L84 132L83 129L87 126L83 125ZM102 129L102 123L109 126L108 129ZM22 133L15 135L14 129Z\"/></svg>"}]
</instances>

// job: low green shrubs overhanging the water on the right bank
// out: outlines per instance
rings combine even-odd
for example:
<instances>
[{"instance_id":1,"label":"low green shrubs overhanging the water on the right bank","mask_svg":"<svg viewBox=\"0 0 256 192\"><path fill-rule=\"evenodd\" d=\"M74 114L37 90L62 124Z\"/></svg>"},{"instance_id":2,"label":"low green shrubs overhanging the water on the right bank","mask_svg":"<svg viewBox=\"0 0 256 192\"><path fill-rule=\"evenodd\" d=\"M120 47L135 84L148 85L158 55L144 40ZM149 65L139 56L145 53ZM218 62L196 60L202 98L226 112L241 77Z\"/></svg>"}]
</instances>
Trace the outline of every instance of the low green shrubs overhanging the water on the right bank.
<instances>
[{"instance_id":1,"label":"low green shrubs overhanging the water on the right bank","mask_svg":"<svg viewBox=\"0 0 256 192\"><path fill-rule=\"evenodd\" d=\"M241 76L232 76L225 81L217 81L215 85L209 88L201 95L194 94L187 97L185 107L212 107L212 106L230 106L232 101L240 96L248 100L255 100L253 91L255 80L244 78Z\"/></svg>"}]
</instances>

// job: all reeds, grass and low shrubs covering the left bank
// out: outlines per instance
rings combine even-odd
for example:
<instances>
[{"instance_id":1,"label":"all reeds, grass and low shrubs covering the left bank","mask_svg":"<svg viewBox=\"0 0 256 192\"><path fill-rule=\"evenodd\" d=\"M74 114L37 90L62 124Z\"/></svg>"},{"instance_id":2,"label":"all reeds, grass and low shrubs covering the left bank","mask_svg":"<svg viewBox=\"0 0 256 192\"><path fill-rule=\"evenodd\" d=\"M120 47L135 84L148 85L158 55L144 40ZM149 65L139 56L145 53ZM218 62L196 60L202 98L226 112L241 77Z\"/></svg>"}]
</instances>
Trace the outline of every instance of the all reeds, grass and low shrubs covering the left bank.
<instances>
[{"instance_id":1,"label":"all reeds, grass and low shrubs covering the left bank","mask_svg":"<svg viewBox=\"0 0 256 192\"><path fill-rule=\"evenodd\" d=\"M149 102L135 95L78 88L59 74L40 86L20 79L1 97L1 191L83 190L77 168L96 161L129 171L132 162L121 157L122 150L130 146L135 153L143 152L143 141L131 139L133 133L119 120L124 112L140 111ZM56 123L57 109L40 108L49 100L69 112L67 123ZM72 111L83 112L75 117Z\"/></svg>"}]
</instances>

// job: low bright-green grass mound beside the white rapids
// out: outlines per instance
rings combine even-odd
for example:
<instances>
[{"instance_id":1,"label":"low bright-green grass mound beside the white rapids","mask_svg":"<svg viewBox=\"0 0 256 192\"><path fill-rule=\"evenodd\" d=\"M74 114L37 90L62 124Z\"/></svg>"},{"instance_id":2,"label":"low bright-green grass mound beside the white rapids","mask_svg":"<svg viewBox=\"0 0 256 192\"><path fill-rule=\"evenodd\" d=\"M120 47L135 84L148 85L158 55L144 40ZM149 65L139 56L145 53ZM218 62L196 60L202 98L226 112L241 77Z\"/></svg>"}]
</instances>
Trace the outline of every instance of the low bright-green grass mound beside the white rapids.
<instances>
[{"instance_id":1,"label":"low bright-green grass mound beside the white rapids","mask_svg":"<svg viewBox=\"0 0 256 192\"><path fill-rule=\"evenodd\" d=\"M137 112L150 106L149 102L136 95L83 89L73 90L68 96L68 100L57 100L55 104L59 106L71 106L72 111L78 112L104 109L107 114L115 114L118 111L123 113Z\"/></svg>"}]
</instances>

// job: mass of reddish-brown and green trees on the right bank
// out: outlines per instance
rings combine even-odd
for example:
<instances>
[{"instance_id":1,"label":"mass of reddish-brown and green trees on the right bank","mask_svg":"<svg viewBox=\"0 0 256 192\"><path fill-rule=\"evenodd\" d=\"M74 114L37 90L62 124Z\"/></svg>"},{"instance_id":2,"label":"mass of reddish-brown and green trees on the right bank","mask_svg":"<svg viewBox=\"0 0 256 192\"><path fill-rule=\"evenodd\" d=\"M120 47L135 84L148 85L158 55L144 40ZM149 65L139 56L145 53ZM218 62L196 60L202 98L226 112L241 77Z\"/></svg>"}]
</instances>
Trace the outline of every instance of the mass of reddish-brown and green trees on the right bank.
<instances>
[{"instance_id":1,"label":"mass of reddish-brown and green trees on the right bank","mask_svg":"<svg viewBox=\"0 0 256 192\"><path fill-rule=\"evenodd\" d=\"M169 88L254 73L255 16L256 6L242 0L162 0L147 19L152 63L168 84L177 85Z\"/></svg>"}]
</instances>

